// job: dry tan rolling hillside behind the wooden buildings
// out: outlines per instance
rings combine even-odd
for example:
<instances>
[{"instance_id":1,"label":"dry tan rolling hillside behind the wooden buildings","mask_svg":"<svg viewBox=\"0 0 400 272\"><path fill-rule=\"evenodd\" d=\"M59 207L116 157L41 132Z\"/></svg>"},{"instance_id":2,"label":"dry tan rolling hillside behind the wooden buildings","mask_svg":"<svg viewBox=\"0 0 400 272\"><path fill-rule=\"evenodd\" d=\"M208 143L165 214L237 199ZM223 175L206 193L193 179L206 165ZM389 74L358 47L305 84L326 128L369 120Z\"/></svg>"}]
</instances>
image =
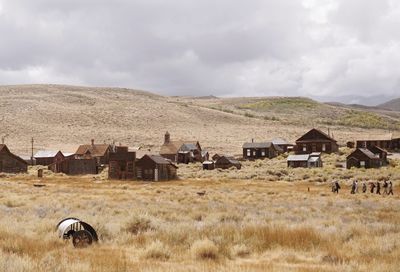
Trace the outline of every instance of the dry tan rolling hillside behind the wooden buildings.
<instances>
[{"instance_id":1,"label":"dry tan rolling hillside behind the wooden buildings","mask_svg":"<svg viewBox=\"0 0 400 272\"><path fill-rule=\"evenodd\" d=\"M0 86L0 136L18 154L34 149L74 152L77 145L121 142L157 152L165 131L198 139L211 152L239 154L243 142L284 137L311 127L344 143L359 134L400 129L400 113L319 103L302 97L166 97L121 88L64 85Z\"/></svg>"}]
</instances>

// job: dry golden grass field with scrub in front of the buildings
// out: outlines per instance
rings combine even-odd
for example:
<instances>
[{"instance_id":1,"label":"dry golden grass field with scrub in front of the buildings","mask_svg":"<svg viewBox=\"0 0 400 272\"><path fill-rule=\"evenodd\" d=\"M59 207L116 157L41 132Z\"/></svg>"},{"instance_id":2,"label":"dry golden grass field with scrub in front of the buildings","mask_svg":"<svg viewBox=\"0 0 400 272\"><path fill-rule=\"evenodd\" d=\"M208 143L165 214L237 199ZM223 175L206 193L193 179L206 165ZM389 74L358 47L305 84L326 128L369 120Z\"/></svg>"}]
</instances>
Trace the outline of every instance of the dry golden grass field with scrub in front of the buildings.
<instances>
[{"instance_id":1,"label":"dry golden grass field with scrub in front of the buildings","mask_svg":"<svg viewBox=\"0 0 400 272\"><path fill-rule=\"evenodd\" d=\"M270 162L246 164L236 172L240 179L225 172L209 179L201 175L211 172L197 171L198 176L165 183L47 172L39 181L34 171L3 176L0 270L398 271L397 165L348 171L356 177L390 176L395 196L388 197L350 195L349 177L343 176L343 190L334 195L329 182L314 180L322 170L308 171L307 178L304 169L285 174L280 163L268 169ZM195 167L180 171L190 176ZM280 181L246 176L256 168L282 175ZM46 186L34 187L38 182ZM203 190L204 196L197 195ZM58 238L56 224L70 216L95 226L98 245L75 249Z\"/></svg>"}]
</instances>

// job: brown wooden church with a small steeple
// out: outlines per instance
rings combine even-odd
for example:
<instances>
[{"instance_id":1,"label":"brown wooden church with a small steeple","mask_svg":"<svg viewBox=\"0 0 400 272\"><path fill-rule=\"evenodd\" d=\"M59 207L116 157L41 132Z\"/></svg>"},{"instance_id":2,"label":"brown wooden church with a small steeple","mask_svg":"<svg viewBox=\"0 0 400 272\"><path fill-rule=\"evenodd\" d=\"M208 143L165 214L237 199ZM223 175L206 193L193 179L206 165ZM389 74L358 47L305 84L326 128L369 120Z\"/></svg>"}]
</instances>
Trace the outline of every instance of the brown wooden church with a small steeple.
<instances>
[{"instance_id":1,"label":"brown wooden church with a small steeple","mask_svg":"<svg viewBox=\"0 0 400 272\"><path fill-rule=\"evenodd\" d=\"M176 163L187 164L205 160L198 141L171 141L168 131L164 135L164 144L161 146L160 155Z\"/></svg>"}]
</instances>

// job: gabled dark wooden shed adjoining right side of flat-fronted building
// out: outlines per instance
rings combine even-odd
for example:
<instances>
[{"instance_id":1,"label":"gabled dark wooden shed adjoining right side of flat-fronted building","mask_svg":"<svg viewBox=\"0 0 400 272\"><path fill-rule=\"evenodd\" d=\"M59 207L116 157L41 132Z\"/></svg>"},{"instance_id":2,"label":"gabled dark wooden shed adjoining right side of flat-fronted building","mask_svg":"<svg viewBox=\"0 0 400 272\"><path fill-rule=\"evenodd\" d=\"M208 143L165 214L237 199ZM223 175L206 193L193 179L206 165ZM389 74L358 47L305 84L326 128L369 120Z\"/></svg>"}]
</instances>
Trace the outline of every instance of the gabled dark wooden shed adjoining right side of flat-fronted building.
<instances>
[{"instance_id":1,"label":"gabled dark wooden shed adjoining right side of flat-fronted building","mask_svg":"<svg viewBox=\"0 0 400 272\"><path fill-rule=\"evenodd\" d=\"M163 181L177 178L178 167L159 155L144 155L136 162L137 179Z\"/></svg>"}]
</instances>

